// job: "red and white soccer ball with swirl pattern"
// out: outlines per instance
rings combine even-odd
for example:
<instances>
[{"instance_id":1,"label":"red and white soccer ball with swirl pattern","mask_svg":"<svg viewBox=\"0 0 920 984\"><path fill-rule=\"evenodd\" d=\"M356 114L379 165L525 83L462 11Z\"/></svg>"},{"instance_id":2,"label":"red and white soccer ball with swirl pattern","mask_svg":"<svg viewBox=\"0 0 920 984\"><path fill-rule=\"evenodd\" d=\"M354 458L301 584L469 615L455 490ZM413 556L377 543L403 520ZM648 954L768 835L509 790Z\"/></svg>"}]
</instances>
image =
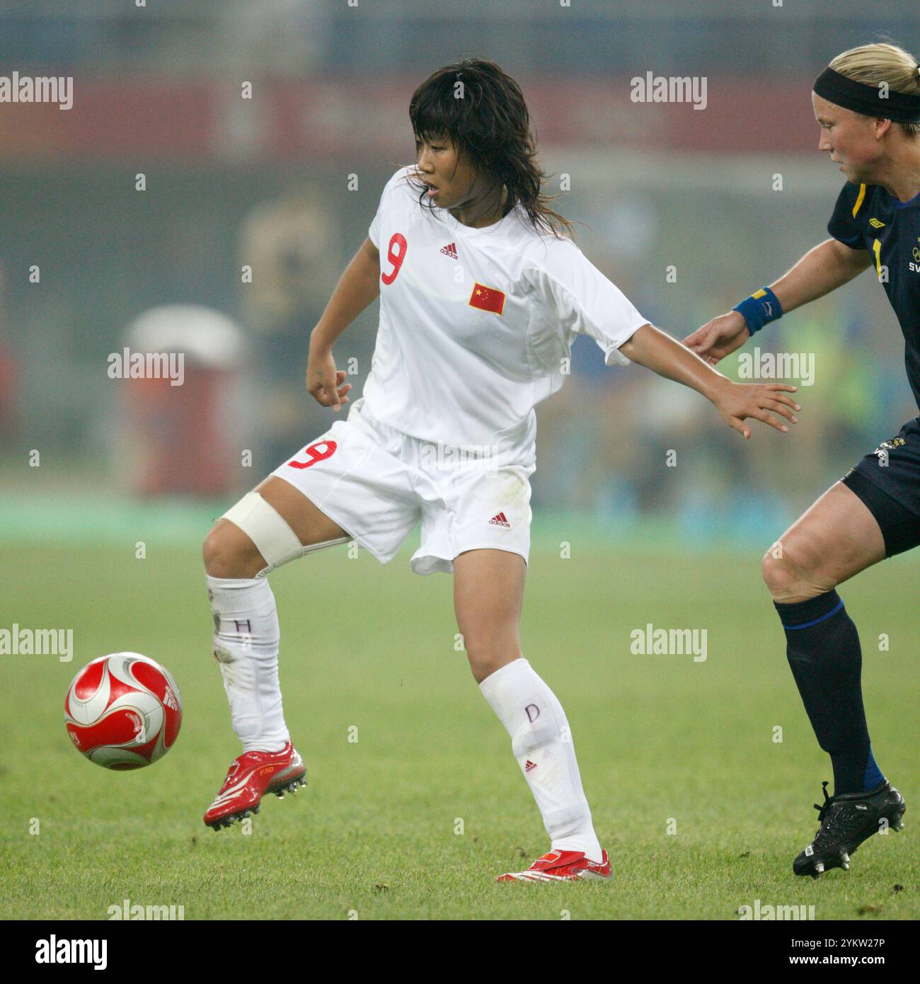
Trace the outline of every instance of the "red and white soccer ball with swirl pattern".
<instances>
[{"instance_id":1,"label":"red and white soccer ball with swirl pattern","mask_svg":"<svg viewBox=\"0 0 920 984\"><path fill-rule=\"evenodd\" d=\"M105 769L143 769L172 748L182 695L169 671L140 652L99 656L74 677L64 701L67 733Z\"/></svg>"}]
</instances>

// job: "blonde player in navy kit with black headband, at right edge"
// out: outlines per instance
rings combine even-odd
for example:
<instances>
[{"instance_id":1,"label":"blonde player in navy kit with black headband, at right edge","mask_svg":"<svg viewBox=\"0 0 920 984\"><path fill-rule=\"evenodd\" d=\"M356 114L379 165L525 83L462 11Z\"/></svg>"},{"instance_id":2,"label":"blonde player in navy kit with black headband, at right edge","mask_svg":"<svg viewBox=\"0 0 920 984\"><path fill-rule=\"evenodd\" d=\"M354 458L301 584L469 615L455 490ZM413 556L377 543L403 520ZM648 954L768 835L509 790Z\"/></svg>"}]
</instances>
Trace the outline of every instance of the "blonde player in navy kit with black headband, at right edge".
<instances>
[{"instance_id":1,"label":"blonde player in navy kit with black headband, at right edge","mask_svg":"<svg viewBox=\"0 0 920 984\"><path fill-rule=\"evenodd\" d=\"M920 68L896 45L853 48L822 72L812 102L819 150L847 178L828 224L832 238L685 342L714 365L768 321L872 269L904 334L920 407ZM920 417L858 461L764 558L789 665L833 768L833 796L825 782L821 828L795 858L797 875L846 869L869 836L903 826L903 797L870 745L859 636L836 585L918 543Z\"/></svg>"}]
</instances>

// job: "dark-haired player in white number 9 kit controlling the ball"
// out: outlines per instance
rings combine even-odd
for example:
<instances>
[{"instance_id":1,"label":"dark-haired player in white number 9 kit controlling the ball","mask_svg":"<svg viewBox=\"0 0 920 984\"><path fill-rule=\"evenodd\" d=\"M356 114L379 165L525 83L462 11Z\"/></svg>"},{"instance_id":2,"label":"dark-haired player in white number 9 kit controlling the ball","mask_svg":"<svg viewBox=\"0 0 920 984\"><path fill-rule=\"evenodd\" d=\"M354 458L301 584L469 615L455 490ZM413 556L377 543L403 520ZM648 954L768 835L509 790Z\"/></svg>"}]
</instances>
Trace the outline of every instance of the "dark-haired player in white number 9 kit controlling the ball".
<instances>
[{"instance_id":1,"label":"dark-haired player in white number 9 kit controlling the ball","mask_svg":"<svg viewBox=\"0 0 920 984\"><path fill-rule=\"evenodd\" d=\"M500 880L606 878L565 711L521 655L519 625L535 467L534 405L565 381L577 333L608 365L639 362L711 400L745 437L799 407L780 384L732 383L648 324L583 256L541 192L517 83L467 59L412 95L416 164L387 183L310 337L307 389L339 409L351 389L333 345L380 295L363 396L331 429L215 523L204 547L214 651L243 754L205 823L258 809L303 781L281 710L278 622L266 575L332 543L381 563L421 522L413 571L454 573L473 676L512 739L550 851Z\"/></svg>"}]
</instances>

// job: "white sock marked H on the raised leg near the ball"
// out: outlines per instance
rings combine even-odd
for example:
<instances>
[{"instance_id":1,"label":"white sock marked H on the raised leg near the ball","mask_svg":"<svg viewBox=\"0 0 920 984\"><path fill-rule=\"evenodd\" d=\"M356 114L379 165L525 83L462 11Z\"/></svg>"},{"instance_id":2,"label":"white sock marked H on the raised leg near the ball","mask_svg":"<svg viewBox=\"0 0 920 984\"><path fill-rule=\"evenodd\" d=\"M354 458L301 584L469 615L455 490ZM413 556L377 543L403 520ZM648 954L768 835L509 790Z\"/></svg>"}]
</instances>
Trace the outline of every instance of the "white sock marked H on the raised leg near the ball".
<instances>
[{"instance_id":1,"label":"white sock marked H on the raised leg near the ball","mask_svg":"<svg viewBox=\"0 0 920 984\"><path fill-rule=\"evenodd\" d=\"M265 578L212 578L214 653L243 752L280 752L289 740L277 681L280 630Z\"/></svg>"}]
</instances>

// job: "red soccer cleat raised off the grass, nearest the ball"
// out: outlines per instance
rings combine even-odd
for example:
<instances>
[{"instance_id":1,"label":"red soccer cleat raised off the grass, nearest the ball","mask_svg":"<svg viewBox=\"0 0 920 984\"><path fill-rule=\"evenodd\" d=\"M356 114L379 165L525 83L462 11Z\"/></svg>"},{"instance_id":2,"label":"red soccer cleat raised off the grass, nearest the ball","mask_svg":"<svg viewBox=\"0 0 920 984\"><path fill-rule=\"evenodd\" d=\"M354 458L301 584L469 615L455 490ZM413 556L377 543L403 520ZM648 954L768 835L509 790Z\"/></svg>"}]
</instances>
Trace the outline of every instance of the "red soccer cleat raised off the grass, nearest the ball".
<instances>
[{"instance_id":1,"label":"red soccer cleat raised off the grass, nearest the ball","mask_svg":"<svg viewBox=\"0 0 920 984\"><path fill-rule=\"evenodd\" d=\"M213 830L229 827L236 820L259 812L267 793L280 799L285 792L296 792L307 784L303 759L288 742L280 752L247 752L233 760L220 792L205 814Z\"/></svg>"}]
</instances>

